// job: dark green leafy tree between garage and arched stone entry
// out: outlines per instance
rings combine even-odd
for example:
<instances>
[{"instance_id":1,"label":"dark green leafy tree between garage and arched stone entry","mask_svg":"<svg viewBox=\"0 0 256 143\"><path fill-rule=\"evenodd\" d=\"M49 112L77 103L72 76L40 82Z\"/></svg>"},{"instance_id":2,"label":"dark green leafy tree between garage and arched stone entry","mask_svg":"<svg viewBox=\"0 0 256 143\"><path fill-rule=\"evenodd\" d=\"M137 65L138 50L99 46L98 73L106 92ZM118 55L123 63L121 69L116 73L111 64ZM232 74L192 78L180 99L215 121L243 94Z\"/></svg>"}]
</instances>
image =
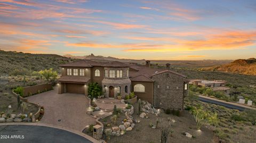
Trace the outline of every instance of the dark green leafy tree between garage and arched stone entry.
<instances>
[{"instance_id":1,"label":"dark green leafy tree between garage and arched stone entry","mask_svg":"<svg viewBox=\"0 0 256 143\"><path fill-rule=\"evenodd\" d=\"M90 98L98 98L98 96L102 95L102 88L99 86L98 83L93 82L90 83L88 86L88 95L90 95Z\"/></svg>"}]
</instances>

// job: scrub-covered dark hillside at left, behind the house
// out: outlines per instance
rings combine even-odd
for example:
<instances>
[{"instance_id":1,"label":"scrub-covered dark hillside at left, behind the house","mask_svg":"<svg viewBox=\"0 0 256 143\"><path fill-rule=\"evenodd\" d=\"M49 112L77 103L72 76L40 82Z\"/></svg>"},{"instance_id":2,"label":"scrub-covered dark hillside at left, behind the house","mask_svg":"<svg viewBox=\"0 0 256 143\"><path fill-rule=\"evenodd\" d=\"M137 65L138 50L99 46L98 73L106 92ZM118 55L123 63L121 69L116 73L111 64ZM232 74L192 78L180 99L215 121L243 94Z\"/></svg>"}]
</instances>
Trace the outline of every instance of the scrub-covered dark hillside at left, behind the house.
<instances>
[{"instance_id":1,"label":"scrub-covered dark hillside at left, behind the house","mask_svg":"<svg viewBox=\"0 0 256 143\"><path fill-rule=\"evenodd\" d=\"M30 54L0 50L0 75L20 72L27 74L53 68L59 70L59 65L75 61L74 59L54 54Z\"/></svg>"}]
</instances>

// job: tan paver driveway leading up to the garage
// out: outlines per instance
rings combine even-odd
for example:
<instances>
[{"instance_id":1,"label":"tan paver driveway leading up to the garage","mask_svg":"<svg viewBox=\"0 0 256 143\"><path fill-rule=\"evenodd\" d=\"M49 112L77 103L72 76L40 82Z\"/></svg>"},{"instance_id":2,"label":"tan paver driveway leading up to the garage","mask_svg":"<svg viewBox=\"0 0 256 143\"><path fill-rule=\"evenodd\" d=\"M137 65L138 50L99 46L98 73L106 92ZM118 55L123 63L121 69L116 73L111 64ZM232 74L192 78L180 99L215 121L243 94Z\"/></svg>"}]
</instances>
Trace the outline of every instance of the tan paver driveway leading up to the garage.
<instances>
[{"instance_id":1,"label":"tan paver driveway leading up to the garage","mask_svg":"<svg viewBox=\"0 0 256 143\"><path fill-rule=\"evenodd\" d=\"M39 123L59 125L77 131L82 131L86 125L95 123L95 119L86 114L89 101L82 94L58 94L55 88L28 97L28 102L44 106L45 113Z\"/></svg>"}]
</instances>

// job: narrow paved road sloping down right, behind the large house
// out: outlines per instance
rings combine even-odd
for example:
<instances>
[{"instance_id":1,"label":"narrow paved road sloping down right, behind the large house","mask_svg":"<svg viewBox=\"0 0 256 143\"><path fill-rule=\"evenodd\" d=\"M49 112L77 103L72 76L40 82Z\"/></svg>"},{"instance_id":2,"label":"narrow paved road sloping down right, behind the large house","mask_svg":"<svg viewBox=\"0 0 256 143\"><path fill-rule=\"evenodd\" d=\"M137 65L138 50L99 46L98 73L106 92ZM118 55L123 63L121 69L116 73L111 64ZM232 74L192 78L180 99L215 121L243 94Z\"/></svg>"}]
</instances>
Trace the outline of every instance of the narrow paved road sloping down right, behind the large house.
<instances>
[{"instance_id":1,"label":"narrow paved road sloping down right, behind the large house","mask_svg":"<svg viewBox=\"0 0 256 143\"><path fill-rule=\"evenodd\" d=\"M245 110L245 108L241 107L241 106L236 106L236 105L233 105L233 104L218 102L216 100L211 100L211 99L208 99L208 98L199 97L199 100L201 102L217 104L217 105L221 105L221 106L224 106L224 107L227 107L227 108L230 108L230 109L236 109L236 110L239 110L239 111L244 111Z\"/></svg>"}]
</instances>

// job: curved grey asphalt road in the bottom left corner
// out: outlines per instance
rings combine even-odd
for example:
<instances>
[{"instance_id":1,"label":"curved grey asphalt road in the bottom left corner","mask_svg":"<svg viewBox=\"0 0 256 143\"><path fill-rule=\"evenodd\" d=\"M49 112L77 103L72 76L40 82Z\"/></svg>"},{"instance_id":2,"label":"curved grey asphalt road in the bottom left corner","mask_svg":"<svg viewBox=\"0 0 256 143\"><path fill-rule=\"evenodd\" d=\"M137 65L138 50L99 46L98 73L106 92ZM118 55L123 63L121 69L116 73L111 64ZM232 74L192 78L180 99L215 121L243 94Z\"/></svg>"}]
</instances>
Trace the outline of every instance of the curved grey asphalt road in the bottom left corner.
<instances>
[{"instance_id":1,"label":"curved grey asphalt road in the bottom left corner","mask_svg":"<svg viewBox=\"0 0 256 143\"><path fill-rule=\"evenodd\" d=\"M5 137L9 136L9 139L1 139L4 137L2 135L6 135ZM11 139L11 137L14 137L12 135L20 135L20 138L23 135L23 139ZM0 125L0 136L1 143L91 143L88 139L69 131L36 125Z\"/></svg>"}]
</instances>

